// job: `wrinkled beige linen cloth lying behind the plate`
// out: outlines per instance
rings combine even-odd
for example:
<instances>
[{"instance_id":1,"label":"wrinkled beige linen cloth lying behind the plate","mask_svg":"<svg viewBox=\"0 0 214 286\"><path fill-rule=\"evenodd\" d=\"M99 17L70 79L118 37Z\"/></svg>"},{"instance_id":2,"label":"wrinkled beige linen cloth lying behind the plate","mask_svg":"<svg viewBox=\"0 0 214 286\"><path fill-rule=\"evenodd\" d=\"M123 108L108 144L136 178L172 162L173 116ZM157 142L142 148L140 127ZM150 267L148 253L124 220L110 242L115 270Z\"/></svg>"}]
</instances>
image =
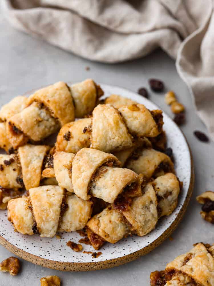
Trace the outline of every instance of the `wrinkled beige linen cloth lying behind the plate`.
<instances>
[{"instance_id":1,"label":"wrinkled beige linen cloth lying behind the plate","mask_svg":"<svg viewBox=\"0 0 214 286\"><path fill-rule=\"evenodd\" d=\"M87 59L116 63L161 47L214 140L212 0L1 1L15 28Z\"/></svg>"}]
</instances>

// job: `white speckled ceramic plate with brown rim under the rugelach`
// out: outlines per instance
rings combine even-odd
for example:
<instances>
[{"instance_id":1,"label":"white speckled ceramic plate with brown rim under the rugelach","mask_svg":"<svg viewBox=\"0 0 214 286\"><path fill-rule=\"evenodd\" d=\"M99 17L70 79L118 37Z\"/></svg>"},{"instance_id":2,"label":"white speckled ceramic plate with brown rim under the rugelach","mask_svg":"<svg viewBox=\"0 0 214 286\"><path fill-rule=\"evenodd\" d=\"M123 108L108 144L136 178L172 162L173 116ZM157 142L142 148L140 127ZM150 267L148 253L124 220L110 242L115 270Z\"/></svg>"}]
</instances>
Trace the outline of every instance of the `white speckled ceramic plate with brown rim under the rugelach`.
<instances>
[{"instance_id":1,"label":"white speckled ceramic plate with brown rim under the rugelach","mask_svg":"<svg viewBox=\"0 0 214 286\"><path fill-rule=\"evenodd\" d=\"M158 106L146 98L123 88L104 84L101 87L105 92L105 96L120 94L144 104L150 110L158 109ZM155 230L144 237L127 237L115 245L106 243L101 249L102 255L95 259L91 254L76 253L66 246L68 240L78 242L80 239L78 233L62 233L60 234L61 239L21 235L14 232L13 226L7 220L6 211L1 211L0 243L23 259L64 271L87 271L114 267L145 255L160 245L171 235L182 219L192 193L194 181L191 152L185 137L165 113L163 113L163 119L167 144L173 149L175 170L179 179L183 181L183 189L179 196L177 208L169 217L162 218ZM89 245L83 246L85 251L94 251Z\"/></svg>"}]
</instances>

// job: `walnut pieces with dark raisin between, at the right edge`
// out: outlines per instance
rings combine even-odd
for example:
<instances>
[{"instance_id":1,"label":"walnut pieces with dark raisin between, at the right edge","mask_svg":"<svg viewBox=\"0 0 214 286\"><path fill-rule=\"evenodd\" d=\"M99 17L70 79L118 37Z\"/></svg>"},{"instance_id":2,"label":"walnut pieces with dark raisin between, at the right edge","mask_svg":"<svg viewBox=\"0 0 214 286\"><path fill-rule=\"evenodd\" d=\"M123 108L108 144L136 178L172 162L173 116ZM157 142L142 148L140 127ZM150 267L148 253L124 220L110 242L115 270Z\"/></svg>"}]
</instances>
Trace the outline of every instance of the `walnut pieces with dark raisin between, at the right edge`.
<instances>
[{"instance_id":1,"label":"walnut pieces with dark raisin between, at the right edge","mask_svg":"<svg viewBox=\"0 0 214 286\"><path fill-rule=\"evenodd\" d=\"M209 223L214 223L214 192L206 191L200 196L196 197L199 204L203 204L201 217Z\"/></svg>"}]
</instances>

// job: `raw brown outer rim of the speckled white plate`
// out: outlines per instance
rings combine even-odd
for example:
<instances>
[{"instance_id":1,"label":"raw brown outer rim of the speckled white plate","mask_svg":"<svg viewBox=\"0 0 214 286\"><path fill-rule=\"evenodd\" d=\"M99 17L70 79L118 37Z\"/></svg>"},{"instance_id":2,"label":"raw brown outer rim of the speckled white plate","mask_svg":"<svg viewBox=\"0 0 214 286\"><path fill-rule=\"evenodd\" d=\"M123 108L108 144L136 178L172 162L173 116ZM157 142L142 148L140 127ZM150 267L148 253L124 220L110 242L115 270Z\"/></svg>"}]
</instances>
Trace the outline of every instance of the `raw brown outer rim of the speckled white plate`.
<instances>
[{"instance_id":1,"label":"raw brown outer rim of the speckled white plate","mask_svg":"<svg viewBox=\"0 0 214 286\"><path fill-rule=\"evenodd\" d=\"M70 82L68 84L70 84ZM103 86L121 88L120 86L116 86L116 85L108 85L108 84L102 84L102 83L100 85L101 86L103 85ZM128 92L136 93L136 92L133 92L131 90L128 90L127 88L122 88L122 89L127 90ZM37 90L37 89L33 89L31 91L28 91L25 94L29 94L30 92L33 92L34 90ZM25 94L23 94L23 95L25 95ZM146 99L146 101L150 102L150 100L148 100L148 99ZM179 130L183 134L183 131L180 128L179 128ZM177 228L177 226L181 222L181 220L185 214L185 211L187 210L187 206L188 206L190 198L192 196L194 181L195 181L194 164L193 164L191 149L190 149L190 146L187 142L187 138L184 134L183 134L183 137L187 143L187 147L188 147L189 154L190 154L190 164L191 164L191 177L190 177L190 183L189 183L189 188L187 191L186 199L183 203L183 206L179 210L177 217L173 221L173 223L171 223L171 225L156 240L152 241L149 245L143 247L142 249L139 249L138 251L135 251L133 253L125 255L123 257L117 257L114 259L108 259L108 260L104 260L104 261L61 262L61 261L53 261L50 259L42 258L42 257L39 257L37 255L28 253L27 251L24 251L24 250L16 247L15 245L13 245L12 243L8 242L7 239L2 237L1 235L0 235L0 244L3 247L5 247L7 250L11 251L12 253L14 253L15 255L17 255L18 257L20 257L24 260L27 260L31 263L36 264L36 265L40 265L43 267L51 268L54 270L60 270L60 271L94 271L94 270L100 270L100 269L107 269L107 268L116 267L116 266L123 265L123 264L128 263L128 262L134 261L134 260L138 259L139 257L150 253L152 250L154 250L156 247L158 247L161 243L163 243L163 241L165 241L173 233L173 231L175 231L175 229Z\"/></svg>"}]
</instances>

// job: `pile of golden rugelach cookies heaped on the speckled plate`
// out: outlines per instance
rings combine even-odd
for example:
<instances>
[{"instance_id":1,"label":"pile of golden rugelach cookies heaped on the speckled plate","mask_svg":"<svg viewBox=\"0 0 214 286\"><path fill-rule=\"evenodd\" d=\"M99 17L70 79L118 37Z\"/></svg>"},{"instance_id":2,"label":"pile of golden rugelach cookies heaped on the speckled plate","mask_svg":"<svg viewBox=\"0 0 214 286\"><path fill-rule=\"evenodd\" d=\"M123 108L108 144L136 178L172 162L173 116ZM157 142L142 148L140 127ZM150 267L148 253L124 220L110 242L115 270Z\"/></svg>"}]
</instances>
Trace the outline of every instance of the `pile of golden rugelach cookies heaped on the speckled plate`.
<instances>
[{"instance_id":1,"label":"pile of golden rugelach cookies heaped on the speckled plate","mask_svg":"<svg viewBox=\"0 0 214 286\"><path fill-rule=\"evenodd\" d=\"M176 208L182 183L163 152L162 111L103 94L93 80L58 82L1 108L0 208L19 233L85 228L100 249L148 234Z\"/></svg>"}]
</instances>

